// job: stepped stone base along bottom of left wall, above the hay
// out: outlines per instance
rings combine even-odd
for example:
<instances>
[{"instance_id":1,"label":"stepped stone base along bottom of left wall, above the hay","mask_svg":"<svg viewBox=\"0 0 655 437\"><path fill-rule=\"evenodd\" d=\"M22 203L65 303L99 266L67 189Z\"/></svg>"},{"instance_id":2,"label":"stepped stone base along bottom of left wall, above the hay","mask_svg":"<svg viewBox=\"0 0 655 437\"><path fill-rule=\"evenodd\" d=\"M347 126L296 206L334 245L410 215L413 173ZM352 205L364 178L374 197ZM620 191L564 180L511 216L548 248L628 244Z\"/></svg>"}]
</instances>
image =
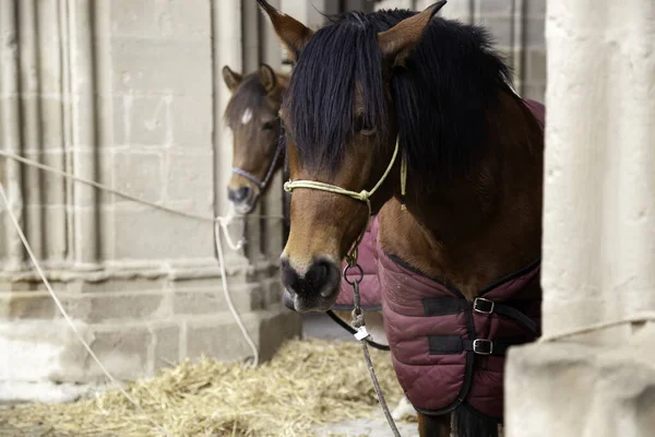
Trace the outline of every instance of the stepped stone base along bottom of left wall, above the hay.
<instances>
[{"instance_id":1,"label":"stepped stone base along bottom of left wall, above the hay","mask_svg":"<svg viewBox=\"0 0 655 437\"><path fill-rule=\"evenodd\" d=\"M243 283L243 274L228 279L230 296L265 362L285 340L301 335L301 318L281 304L276 276L248 276L255 282ZM237 362L252 355L219 277L52 285L79 332L118 380L152 377L184 358ZM0 402L71 401L107 383L40 286L0 290Z\"/></svg>"}]
</instances>

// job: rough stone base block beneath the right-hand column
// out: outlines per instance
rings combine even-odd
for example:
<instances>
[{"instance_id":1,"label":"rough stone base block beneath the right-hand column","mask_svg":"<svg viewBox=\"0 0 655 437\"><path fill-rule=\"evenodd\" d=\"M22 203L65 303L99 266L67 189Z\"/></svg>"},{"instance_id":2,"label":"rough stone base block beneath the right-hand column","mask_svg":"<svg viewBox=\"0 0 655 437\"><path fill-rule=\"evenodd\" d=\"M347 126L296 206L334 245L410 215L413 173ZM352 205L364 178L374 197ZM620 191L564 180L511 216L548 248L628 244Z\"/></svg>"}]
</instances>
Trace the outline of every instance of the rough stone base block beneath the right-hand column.
<instances>
[{"instance_id":1,"label":"rough stone base block beneath the right-hand column","mask_svg":"<svg viewBox=\"0 0 655 437\"><path fill-rule=\"evenodd\" d=\"M618 346L513 347L507 366L508 437L646 437L655 430L655 327Z\"/></svg>"}]
</instances>

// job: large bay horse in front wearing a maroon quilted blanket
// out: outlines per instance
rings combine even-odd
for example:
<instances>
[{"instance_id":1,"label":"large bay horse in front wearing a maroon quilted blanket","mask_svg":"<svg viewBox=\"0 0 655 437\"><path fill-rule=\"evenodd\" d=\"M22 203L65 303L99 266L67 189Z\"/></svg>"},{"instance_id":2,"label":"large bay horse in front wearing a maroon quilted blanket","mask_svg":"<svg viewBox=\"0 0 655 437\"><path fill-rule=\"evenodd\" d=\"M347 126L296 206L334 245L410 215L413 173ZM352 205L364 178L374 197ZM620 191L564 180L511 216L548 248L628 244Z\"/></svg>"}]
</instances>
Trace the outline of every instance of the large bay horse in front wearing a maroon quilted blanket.
<instances>
[{"instance_id":1,"label":"large bay horse in front wearing a maroon quilted blanket","mask_svg":"<svg viewBox=\"0 0 655 437\"><path fill-rule=\"evenodd\" d=\"M484 28L436 16L445 1L315 32L258 3L296 62L279 111L287 300L329 310L377 214L384 323L420 436L497 436L507 350L539 335L545 108L515 94Z\"/></svg>"}]
</instances>

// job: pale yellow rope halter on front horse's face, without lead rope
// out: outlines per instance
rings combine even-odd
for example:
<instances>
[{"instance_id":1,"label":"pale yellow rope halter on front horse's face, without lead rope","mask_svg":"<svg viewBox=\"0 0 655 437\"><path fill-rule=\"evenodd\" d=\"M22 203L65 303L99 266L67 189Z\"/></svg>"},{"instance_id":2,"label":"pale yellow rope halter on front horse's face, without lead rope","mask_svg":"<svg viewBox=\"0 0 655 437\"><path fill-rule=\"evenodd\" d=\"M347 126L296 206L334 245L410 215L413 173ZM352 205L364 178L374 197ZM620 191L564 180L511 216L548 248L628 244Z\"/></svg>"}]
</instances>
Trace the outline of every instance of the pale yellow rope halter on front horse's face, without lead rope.
<instances>
[{"instance_id":1,"label":"pale yellow rope halter on front horse's face, without lead rope","mask_svg":"<svg viewBox=\"0 0 655 437\"><path fill-rule=\"evenodd\" d=\"M360 192L350 191L350 190L347 190L345 188L342 188L342 187L338 187L338 186L335 186L332 184L319 182L315 180L295 180L295 181L289 180L284 184L284 190L287 192L291 192L293 190L295 190L297 188L307 188L307 189L311 189L311 190L326 191L326 192L333 192L335 194L347 196L355 200L366 202L366 205L368 206L368 210L369 210L369 218L370 218L370 216L372 215L371 196L373 196L373 193L382 186L382 184L384 182L384 180L391 173L391 169L393 168L396 157L398 155L398 150L400 150L400 140L396 140L396 145L393 151L393 156L391 157L391 162L389 163L389 166L386 166L384 174L382 175L380 180L378 180L378 184L376 184L373 186L373 188L371 188L370 191L367 191L367 190L361 190ZM403 151L402 158L401 158L401 200L402 200L402 209L403 210L406 209L406 205L405 205L406 186L407 186L407 155ZM359 233L357 240L355 240L355 244L353 245L353 249L350 249L350 252L346 256L346 258L348 260L357 259L357 247L359 246L359 243L361 243L361 239L364 238L364 234L366 233L367 227L368 227L368 222L367 222L367 225L365 225L364 228L361 229L361 233Z\"/></svg>"}]
</instances>

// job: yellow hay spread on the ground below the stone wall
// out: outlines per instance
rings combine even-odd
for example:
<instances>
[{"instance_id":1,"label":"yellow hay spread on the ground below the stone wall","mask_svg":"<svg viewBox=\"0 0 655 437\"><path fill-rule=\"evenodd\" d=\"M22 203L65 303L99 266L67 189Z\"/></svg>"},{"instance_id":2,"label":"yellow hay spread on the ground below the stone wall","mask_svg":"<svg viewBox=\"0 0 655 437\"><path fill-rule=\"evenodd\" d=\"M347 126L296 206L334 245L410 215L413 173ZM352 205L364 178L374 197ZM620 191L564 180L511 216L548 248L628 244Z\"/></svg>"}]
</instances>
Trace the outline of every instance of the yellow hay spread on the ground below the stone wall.
<instances>
[{"instance_id":1,"label":"yellow hay spread on the ground below the stone wall","mask_svg":"<svg viewBox=\"0 0 655 437\"><path fill-rule=\"evenodd\" d=\"M389 353L371 350L371 356L393 408L402 390ZM317 340L290 341L255 369L184 362L127 390L176 437L311 436L315 425L368 416L378 403L359 345ZM71 404L16 405L0 411L2 422L26 435L36 426L58 437L160 435L118 391Z\"/></svg>"}]
</instances>

